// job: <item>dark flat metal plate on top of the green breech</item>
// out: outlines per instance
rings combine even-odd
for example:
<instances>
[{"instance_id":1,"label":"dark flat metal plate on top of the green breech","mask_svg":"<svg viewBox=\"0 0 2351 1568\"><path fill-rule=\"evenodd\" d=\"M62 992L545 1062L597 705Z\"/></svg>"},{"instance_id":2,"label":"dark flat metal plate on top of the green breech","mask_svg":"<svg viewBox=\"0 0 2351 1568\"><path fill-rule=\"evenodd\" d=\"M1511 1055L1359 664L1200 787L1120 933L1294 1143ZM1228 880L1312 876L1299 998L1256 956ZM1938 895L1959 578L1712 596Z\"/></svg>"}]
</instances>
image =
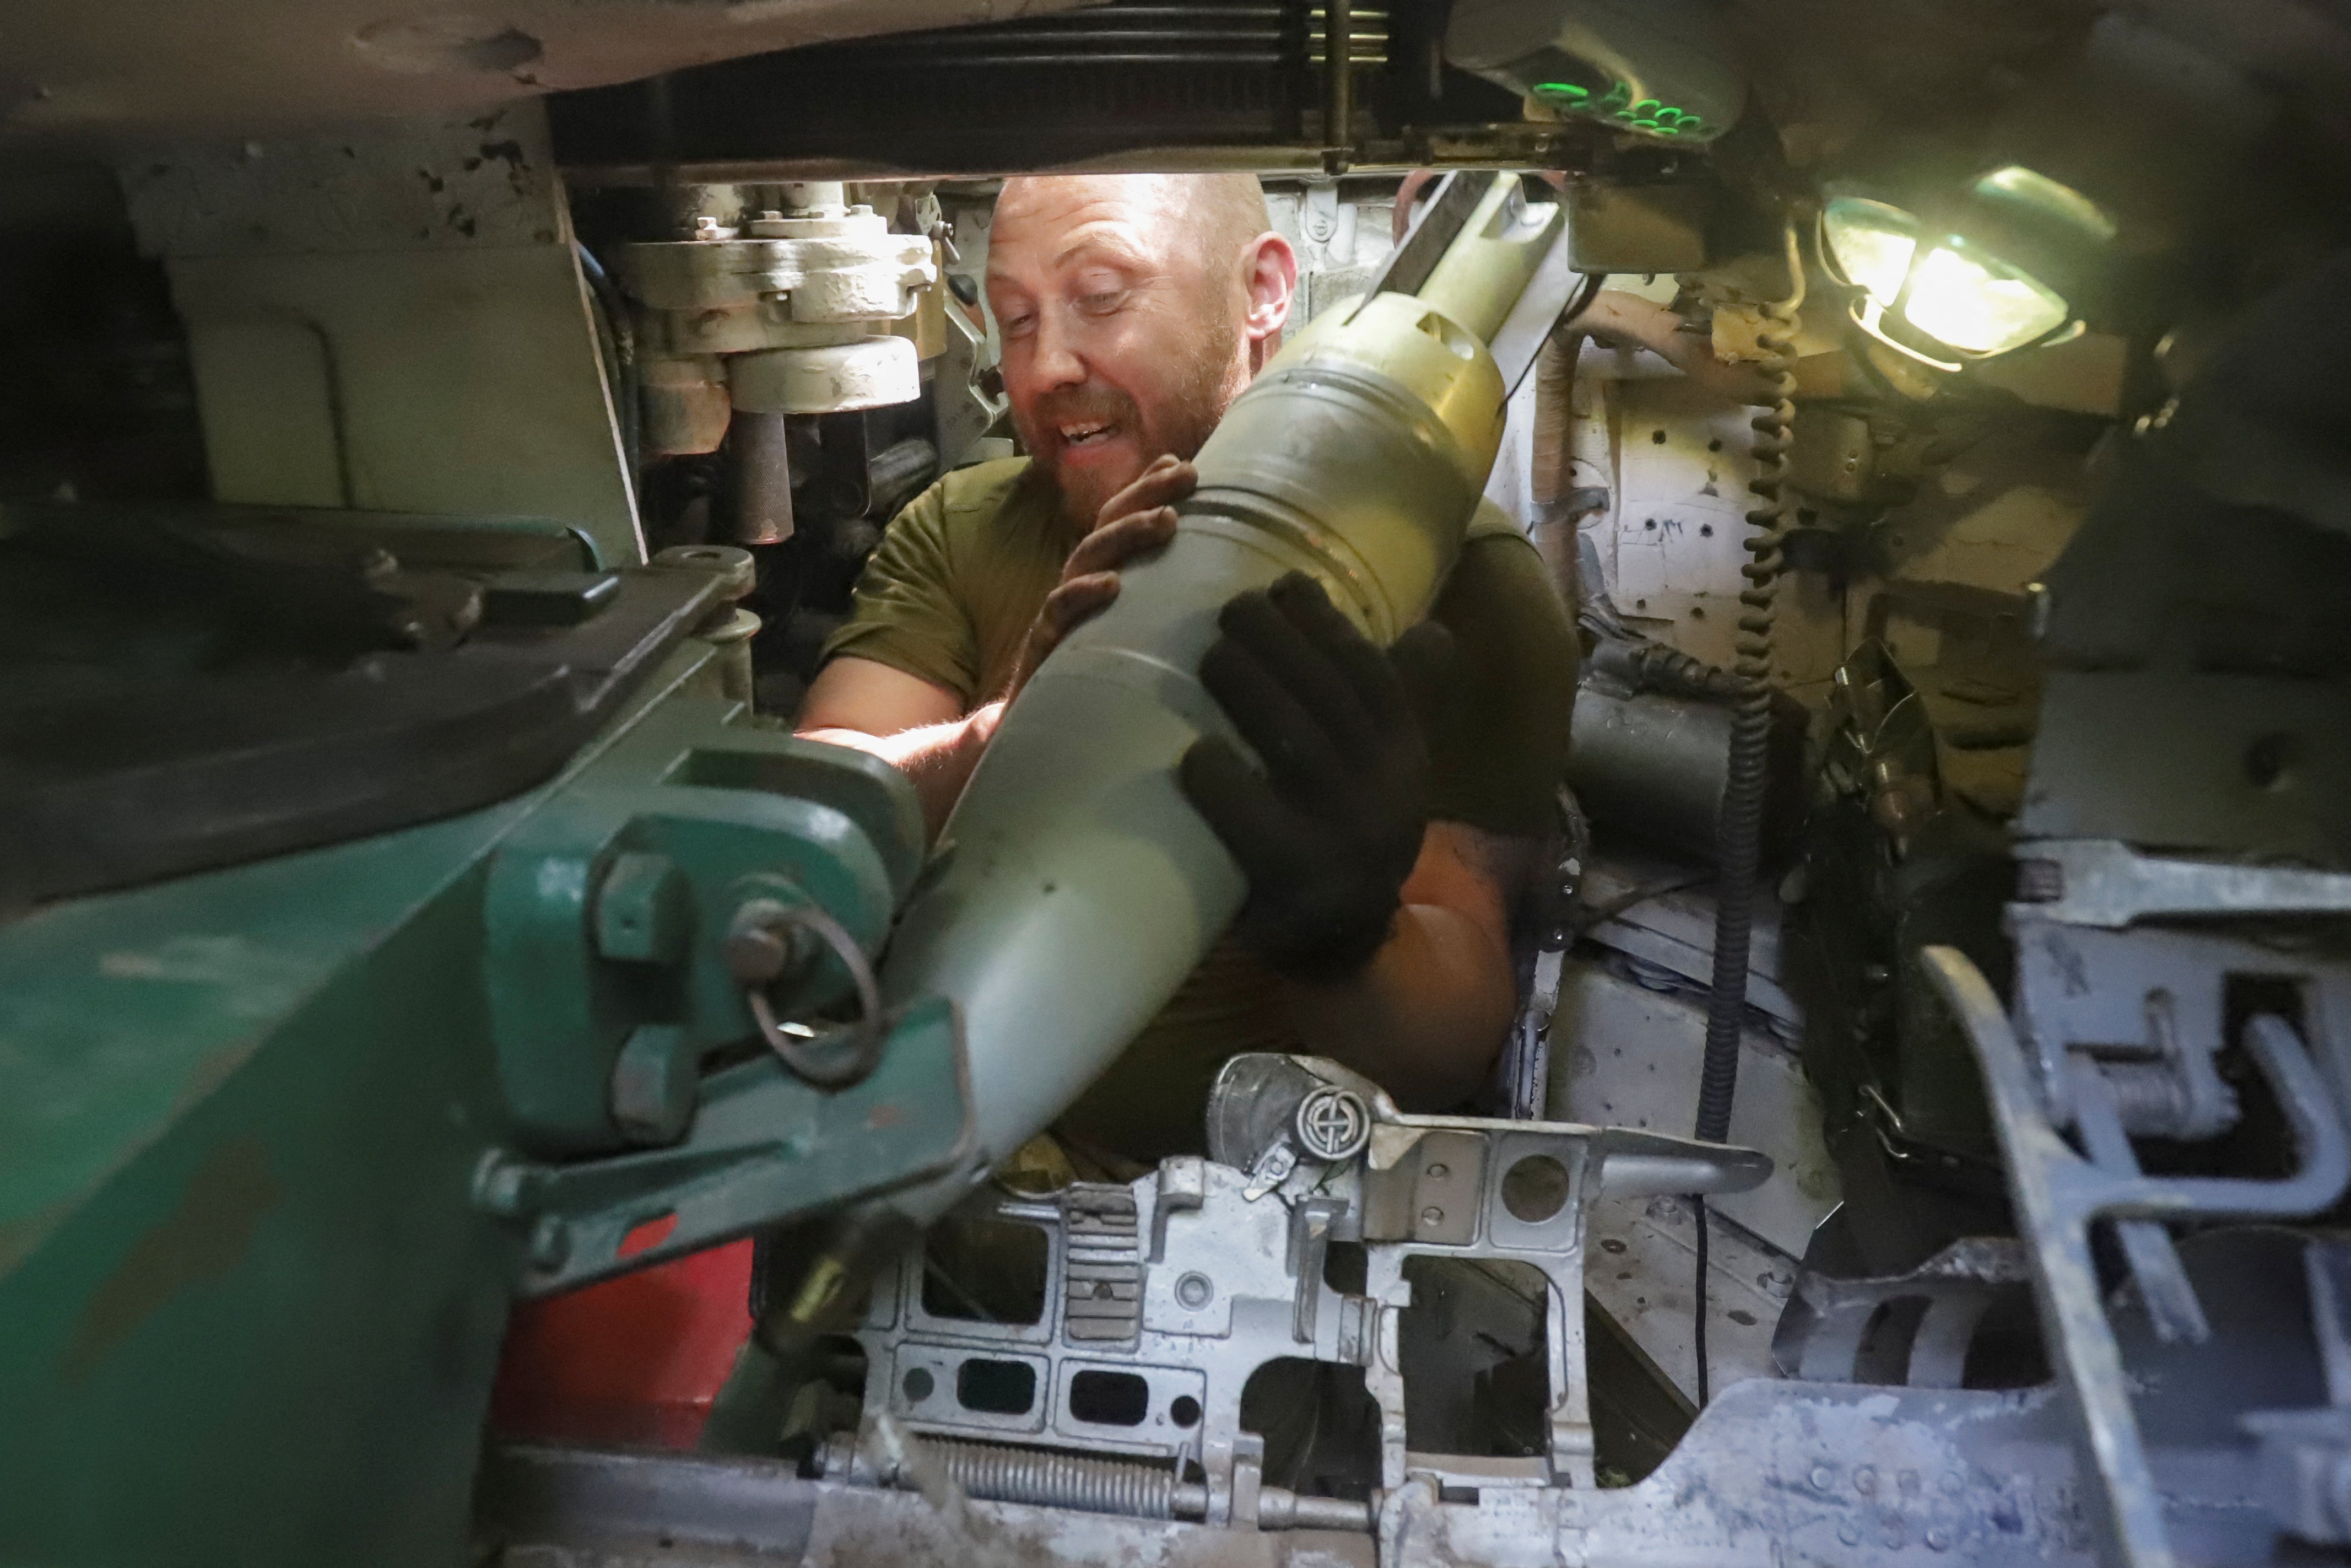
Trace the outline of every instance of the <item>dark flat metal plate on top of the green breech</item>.
<instances>
[{"instance_id":1,"label":"dark flat metal plate on top of the green breech","mask_svg":"<svg viewBox=\"0 0 2351 1568\"><path fill-rule=\"evenodd\" d=\"M16 503L7 529L9 910L517 795L715 595L583 571L534 520Z\"/></svg>"}]
</instances>

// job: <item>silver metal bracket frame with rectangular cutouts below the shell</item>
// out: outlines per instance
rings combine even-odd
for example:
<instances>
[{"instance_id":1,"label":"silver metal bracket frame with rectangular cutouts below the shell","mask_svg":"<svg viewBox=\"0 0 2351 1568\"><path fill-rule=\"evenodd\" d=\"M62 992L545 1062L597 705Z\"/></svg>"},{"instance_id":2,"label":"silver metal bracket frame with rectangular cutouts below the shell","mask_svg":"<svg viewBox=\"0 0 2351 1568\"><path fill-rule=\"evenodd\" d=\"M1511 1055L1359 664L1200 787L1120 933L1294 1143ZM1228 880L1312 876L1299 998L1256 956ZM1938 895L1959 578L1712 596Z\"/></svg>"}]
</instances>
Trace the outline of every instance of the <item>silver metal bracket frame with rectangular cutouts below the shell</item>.
<instances>
[{"instance_id":1,"label":"silver metal bracket frame with rectangular cutouts below the shell","mask_svg":"<svg viewBox=\"0 0 2351 1568\"><path fill-rule=\"evenodd\" d=\"M1166 1467L1164 1476L1197 1465L1208 1523L1302 1523L1324 1505L1262 1483L1265 1439L1241 1427L1241 1392L1265 1363L1307 1359L1364 1368L1382 1410L1382 1486L1408 1474L1446 1486L1589 1486L1582 1234L1592 1201L1751 1187L1768 1171L1749 1150L1653 1133L1404 1117L1371 1084L1314 1058L1241 1056L1220 1084L1223 1117L1213 1112L1213 1121L1225 1131L1215 1147L1230 1164L1178 1157L1131 1187L1081 1182L1058 1199L999 1197L959 1215L1044 1232L1034 1321L936 1309L922 1248L877 1281L858 1328L865 1425L830 1450L828 1474L896 1474L898 1465L877 1455L893 1441L884 1422L898 1422L915 1439L1126 1455ZM1333 1145L1354 1145L1342 1159L1317 1159L1298 1147L1295 1126L1328 1110L1331 1088L1368 1112L1368 1140L1352 1135ZM1291 1159L1267 1161L1279 1147ZM1359 1291L1326 1276L1338 1244L1364 1251ZM1425 1258L1533 1265L1547 1281L1549 1392L1538 1455L1408 1450L1406 1401L1418 1396L1406 1387L1399 1333L1415 1305L1406 1265ZM1016 1389L1009 1399L1006 1380ZM1089 1382L1124 1389L1131 1403L1105 1410L1089 1401ZM1072 1488L1084 1481L1067 1476Z\"/></svg>"}]
</instances>

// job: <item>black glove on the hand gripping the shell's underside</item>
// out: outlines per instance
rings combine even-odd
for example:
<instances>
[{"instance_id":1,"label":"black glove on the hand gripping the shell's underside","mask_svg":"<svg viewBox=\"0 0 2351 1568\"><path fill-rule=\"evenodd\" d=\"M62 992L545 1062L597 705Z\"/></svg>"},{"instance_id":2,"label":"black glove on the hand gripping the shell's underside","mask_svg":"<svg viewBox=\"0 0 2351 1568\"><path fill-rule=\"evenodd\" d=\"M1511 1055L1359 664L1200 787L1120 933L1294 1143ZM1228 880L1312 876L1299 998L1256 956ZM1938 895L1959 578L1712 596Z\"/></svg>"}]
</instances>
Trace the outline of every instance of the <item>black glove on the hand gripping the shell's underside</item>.
<instances>
[{"instance_id":1,"label":"black glove on the hand gripping the shell's underside","mask_svg":"<svg viewBox=\"0 0 2351 1568\"><path fill-rule=\"evenodd\" d=\"M1234 938L1293 980L1352 976L1387 940L1429 820L1425 717L1453 637L1415 625L1382 654L1293 571L1234 597L1201 684L1265 759L1220 736L1178 780L1248 875Z\"/></svg>"}]
</instances>

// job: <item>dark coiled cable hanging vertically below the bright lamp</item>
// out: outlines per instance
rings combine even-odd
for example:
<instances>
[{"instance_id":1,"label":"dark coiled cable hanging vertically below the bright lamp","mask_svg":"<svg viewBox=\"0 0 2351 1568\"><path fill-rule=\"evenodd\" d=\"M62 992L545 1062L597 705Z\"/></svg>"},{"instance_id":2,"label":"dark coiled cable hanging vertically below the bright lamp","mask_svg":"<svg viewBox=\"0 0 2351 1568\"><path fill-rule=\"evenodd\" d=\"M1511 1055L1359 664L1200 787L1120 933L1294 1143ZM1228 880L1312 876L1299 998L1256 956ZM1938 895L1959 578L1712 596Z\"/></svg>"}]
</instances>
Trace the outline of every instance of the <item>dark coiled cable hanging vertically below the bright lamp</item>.
<instances>
[{"instance_id":1,"label":"dark coiled cable hanging vertically below the bright lamp","mask_svg":"<svg viewBox=\"0 0 2351 1568\"><path fill-rule=\"evenodd\" d=\"M1756 475L1747 489L1747 562L1740 574L1737 708L1730 722L1730 769L1723 783L1721 882L1714 900L1714 983L1707 994L1707 1056L1697 1081L1697 1135L1730 1135L1730 1100L1740 1079L1740 1025L1747 1018L1747 945L1754 931L1754 884L1763 837L1763 785L1770 755L1773 602L1780 583L1780 531L1787 520L1787 449L1796 423L1796 310L1803 306L1803 249L1796 226L1782 233L1789 294L1763 308L1756 346L1770 381L1770 407L1754 416Z\"/></svg>"}]
</instances>

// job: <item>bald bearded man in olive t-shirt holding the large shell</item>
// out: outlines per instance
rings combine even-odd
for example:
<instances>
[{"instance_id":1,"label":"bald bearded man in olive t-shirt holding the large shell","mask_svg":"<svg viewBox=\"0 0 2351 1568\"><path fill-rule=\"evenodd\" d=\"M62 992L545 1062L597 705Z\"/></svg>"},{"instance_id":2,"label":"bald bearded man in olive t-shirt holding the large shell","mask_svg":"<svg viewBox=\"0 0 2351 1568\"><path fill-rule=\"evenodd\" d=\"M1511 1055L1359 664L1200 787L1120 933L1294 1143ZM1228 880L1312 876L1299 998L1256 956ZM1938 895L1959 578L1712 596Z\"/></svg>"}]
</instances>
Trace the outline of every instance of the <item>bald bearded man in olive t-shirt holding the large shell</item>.
<instances>
[{"instance_id":1,"label":"bald bearded man in olive t-shirt holding the large shell","mask_svg":"<svg viewBox=\"0 0 2351 1568\"><path fill-rule=\"evenodd\" d=\"M1027 456L955 470L889 524L799 733L900 766L936 835L1023 679L1173 536L1190 458L1279 350L1295 282L1253 174L1006 181L987 303ZM1404 1110L1453 1107L1514 1013L1512 907L1552 832L1578 658L1533 545L1481 512L1385 654L1305 576L1218 625L1201 679L1265 766L1211 738L1180 783L1248 903L1056 1126L1049 1154L1089 1175L1199 1152L1241 1051L1331 1056Z\"/></svg>"}]
</instances>

